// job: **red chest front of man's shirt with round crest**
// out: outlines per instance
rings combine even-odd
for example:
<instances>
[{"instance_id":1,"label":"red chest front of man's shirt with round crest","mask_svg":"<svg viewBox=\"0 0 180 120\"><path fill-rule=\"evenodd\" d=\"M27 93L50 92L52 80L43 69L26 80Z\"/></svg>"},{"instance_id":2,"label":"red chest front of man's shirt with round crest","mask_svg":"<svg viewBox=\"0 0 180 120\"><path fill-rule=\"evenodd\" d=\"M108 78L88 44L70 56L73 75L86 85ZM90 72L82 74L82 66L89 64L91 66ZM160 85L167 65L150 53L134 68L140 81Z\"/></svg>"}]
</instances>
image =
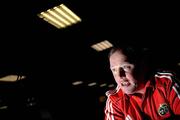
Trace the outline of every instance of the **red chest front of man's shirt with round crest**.
<instances>
[{"instance_id":1,"label":"red chest front of man's shirt with round crest","mask_svg":"<svg viewBox=\"0 0 180 120\"><path fill-rule=\"evenodd\" d=\"M128 96L121 100L122 111L125 118L134 120L146 119L166 119L171 116L169 103L165 95L156 90L148 92L147 97Z\"/></svg>"}]
</instances>

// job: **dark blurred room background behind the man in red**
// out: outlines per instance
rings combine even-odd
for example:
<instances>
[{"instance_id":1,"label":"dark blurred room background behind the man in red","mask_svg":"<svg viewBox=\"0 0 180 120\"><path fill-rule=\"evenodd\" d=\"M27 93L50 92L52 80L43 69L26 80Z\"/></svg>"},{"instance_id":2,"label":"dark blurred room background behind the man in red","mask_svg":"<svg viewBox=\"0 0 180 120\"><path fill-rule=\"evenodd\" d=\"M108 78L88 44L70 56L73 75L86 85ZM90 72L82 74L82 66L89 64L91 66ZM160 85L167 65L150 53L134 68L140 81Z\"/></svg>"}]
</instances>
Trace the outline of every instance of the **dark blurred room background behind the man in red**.
<instances>
[{"instance_id":1,"label":"dark blurred room background behind the man in red","mask_svg":"<svg viewBox=\"0 0 180 120\"><path fill-rule=\"evenodd\" d=\"M62 4L78 18L58 27L44 17ZM1 15L0 119L102 120L105 92L116 87L107 59L116 44L149 50L179 76L176 3L9 0Z\"/></svg>"}]
</instances>

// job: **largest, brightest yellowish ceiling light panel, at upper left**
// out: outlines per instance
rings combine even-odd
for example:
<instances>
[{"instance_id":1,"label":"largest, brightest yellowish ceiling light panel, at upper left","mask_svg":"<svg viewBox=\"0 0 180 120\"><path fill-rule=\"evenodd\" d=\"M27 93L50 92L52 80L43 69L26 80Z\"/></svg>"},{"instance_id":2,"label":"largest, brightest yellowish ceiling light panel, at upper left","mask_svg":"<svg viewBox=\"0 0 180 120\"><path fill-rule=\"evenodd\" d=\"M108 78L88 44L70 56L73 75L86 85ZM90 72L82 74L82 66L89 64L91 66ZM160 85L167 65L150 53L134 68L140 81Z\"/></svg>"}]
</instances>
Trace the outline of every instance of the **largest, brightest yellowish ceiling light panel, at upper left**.
<instances>
[{"instance_id":1,"label":"largest, brightest yellowish ceiling light panel, at upper left","mask_svg":"<svg viewBox=\"0 0 180 120\"><path fill-rule=\"evenodd\" d=\"M66 28L82 21L79 16L64 4L43 11L38 16L58 29Z\"/></svg>"}]
</instances>

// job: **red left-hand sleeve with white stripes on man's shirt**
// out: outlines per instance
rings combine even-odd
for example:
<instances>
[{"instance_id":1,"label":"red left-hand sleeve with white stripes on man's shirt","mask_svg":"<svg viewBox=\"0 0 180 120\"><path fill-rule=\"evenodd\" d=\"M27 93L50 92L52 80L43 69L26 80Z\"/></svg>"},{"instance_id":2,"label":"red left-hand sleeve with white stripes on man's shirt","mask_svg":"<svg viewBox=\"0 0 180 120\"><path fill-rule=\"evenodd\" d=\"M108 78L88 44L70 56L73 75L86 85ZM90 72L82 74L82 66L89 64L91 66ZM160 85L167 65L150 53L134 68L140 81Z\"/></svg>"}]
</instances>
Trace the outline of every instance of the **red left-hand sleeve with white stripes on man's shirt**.
<instances>
[{"instance_id":1,"label":"red left-hand sleeve with white stripes on man's shirt","mask_svg":"<svg viewBox=\"0 0 180 120\"><path fill-rule=\"evenodd\" d=\"M104 112L104 120L124 120L123 112L118 108L117 104L114 103L109 97L107 98Z\"/></svg>"}]
</instances>

